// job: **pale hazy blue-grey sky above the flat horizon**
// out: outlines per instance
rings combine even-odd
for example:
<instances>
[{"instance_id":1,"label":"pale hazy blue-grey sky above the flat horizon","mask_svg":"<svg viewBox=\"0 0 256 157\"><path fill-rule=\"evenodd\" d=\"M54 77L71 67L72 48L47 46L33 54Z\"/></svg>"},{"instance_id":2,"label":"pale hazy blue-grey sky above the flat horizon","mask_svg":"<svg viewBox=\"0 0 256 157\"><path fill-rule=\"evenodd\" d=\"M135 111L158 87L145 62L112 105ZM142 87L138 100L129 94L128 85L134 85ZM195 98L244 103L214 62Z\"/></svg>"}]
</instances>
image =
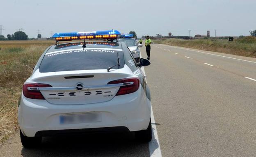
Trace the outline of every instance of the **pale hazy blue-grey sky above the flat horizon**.
<instances>
[{"instance_id":1,"label":"pale hazy blue-grey sky above the flat horizon","mask_svg":"<svg viewBox=\"0 0 256 157\"><path fill-rule=\"evenodd\" d=\"M1 0L3 35L23 28L32 38L51 32L133 30L138 36L249 35L256 0Z\"/></svg>"}]
</instances>

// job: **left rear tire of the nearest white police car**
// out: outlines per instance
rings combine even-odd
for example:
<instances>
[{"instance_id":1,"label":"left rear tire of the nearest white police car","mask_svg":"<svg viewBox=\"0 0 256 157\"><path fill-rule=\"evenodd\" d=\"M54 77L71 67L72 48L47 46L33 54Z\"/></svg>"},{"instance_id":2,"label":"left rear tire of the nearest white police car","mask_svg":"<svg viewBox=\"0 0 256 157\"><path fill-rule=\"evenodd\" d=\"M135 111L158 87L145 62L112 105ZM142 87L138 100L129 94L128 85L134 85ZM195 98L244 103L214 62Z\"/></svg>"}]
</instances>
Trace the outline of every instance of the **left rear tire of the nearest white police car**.
<instances>
[{"instance_id":1,"label":"left rear tire of the nearest white police car","mask_svg":"<svg viewBox=\"0 0 256 157\"><path fill-rule=\"evenodd\" d=\"M36 146L39 146L39 144L41 144L41 141L42 141L42 137L24 136L21 130L20 130L20 136L21 136L21 144L25 148L34 148Z\"/></svg>"}]
</instances>

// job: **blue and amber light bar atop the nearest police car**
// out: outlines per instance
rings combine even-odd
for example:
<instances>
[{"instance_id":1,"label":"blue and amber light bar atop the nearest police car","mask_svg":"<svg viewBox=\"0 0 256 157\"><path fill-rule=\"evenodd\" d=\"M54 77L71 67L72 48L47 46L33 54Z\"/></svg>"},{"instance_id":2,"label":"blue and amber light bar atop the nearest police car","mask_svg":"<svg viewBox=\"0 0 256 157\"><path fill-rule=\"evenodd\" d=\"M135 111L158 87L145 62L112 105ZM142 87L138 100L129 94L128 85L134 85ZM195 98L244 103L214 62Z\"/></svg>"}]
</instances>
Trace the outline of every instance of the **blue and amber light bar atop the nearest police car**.
<instances>
[{"instance_id":1,"label":"blue and amber light bar atop the nearest police car","mask_svg":"<svg viewBox=\"0 0 256 157\"><path fill-rule=\"evenodd\" d=\"M53 38L56 41L70 41L81 39L116 39L119 38L121 33L117 30L108 31L92 31L92 32L65 32L55 33Z\"/></svg>"}]
</instances>

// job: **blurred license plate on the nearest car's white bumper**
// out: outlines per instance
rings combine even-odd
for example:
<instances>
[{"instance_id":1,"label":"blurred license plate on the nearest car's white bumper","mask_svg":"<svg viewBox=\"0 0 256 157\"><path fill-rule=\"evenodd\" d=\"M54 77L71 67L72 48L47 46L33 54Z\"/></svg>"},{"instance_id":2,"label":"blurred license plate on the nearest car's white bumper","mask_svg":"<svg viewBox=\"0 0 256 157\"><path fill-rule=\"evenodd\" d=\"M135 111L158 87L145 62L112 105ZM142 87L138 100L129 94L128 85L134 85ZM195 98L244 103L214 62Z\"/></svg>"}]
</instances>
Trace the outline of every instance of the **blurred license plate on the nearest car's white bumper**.
<instances>
[{"instance_id":1,"label":"blurred license plate on the nearest car's white bumper","mask_svg":"<svg viewBox=\"0 0 256 157\"><path fill-rule=\"evenodd\" d=\"M86 113L76 115L60 115L59 124L78 124L101 122L100 113Z\"/></svg>"}]
</instances>

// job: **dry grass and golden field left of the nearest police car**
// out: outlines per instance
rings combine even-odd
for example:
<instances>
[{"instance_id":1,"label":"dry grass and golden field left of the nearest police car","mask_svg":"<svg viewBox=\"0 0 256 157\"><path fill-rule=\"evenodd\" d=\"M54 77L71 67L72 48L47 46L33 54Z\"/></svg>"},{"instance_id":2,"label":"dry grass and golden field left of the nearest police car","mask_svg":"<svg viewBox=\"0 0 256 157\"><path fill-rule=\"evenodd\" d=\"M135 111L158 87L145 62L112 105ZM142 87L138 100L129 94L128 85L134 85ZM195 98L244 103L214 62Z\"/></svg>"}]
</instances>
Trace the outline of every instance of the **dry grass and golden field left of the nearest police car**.
<instances>
[{"instance_id":1,"label":"dry grass and golden field left of the nearest police car","mask_svg":"<svg viewBox=\"0 0 256 157\"><path fill-rule=\"evenodd\" d=\"M21 88L54 41L0 41L0 144L18 129Z\"/></svg>"}]
</instances>

